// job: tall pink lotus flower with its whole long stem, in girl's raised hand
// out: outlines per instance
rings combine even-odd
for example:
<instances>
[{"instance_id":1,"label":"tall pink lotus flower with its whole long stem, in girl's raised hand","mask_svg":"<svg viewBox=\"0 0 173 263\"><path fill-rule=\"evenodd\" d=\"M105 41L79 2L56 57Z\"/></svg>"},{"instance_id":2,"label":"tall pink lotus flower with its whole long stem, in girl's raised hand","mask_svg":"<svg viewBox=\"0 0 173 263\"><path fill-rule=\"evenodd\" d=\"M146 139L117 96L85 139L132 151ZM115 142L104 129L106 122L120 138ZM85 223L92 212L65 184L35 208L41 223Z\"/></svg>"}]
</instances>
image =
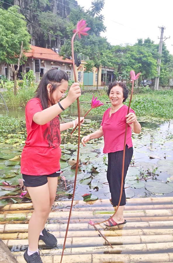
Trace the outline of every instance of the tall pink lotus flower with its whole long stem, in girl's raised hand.
<instances>
[{"instance_id":1,"label":"tall pink lotus flower with its whole long stem, in girl's raised hand","mask_svg":"<svg viewBox=\"0 0 173 263\"><path fill-rule=\"evenodd\" d=\"M90 27L86 27L86 26L87 26L86 21L82 19L82 20L80 20L77 23L76 29L73 30L74 35L72 37L71 46L72 46L72 62L73 62L73 71L74 71L74 75L75 75L75 82L77 82L77 77L76 77L76 71L75 71L74 39L75 39L76 34L79 35L79 39L81 38L81 34L82 35L88 35L86 33L86 31L88 31L90 29ZM72 195L72 203L71 203L71 206L70 206L70 212L69 212L69 217L68 217L67 229L66 229L66 232L65 232L63 251L62 251L62 254L61 254L60 263L62 262L62 259L63 259L64 249L65 249L65 242L66 242L66 239L67 239L67 233L68 233L68 228L69 228L69 223L70 223L70 216L71 216L73 200L74 200L74 196L75 196L77 171L78 171L78 165L79 165L79 148L80 148L80 107L79 107L79 98L77 98L77 110L78 110L79 130L78 130L78 148L77 148L77 162L76 162L76 171L75 171L75 181L74 181L74 188L73 188L73 195Z\"/></svg>"}]
</instances>

